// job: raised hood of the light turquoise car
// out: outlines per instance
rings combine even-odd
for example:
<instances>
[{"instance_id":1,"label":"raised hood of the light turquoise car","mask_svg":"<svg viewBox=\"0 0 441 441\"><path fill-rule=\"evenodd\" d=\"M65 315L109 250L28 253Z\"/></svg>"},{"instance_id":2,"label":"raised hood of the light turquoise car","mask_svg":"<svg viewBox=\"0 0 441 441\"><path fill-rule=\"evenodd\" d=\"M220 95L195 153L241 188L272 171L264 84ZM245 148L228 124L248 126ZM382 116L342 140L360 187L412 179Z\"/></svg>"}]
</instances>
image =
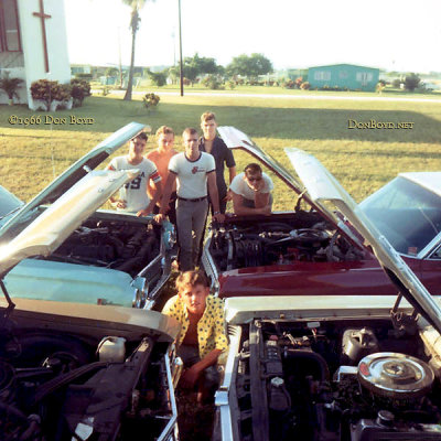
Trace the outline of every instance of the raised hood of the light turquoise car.
<instances>
[{"instance_id":1,"label":"raised hood of the light turquoise car","mask_svg":"<svg viewBox=\"0 0 441 441\"><path fill-rule=\"evenodd\" d=\"M76 182L85 176L88 171L94 170L110 154L128 142L131 138L137 136L144 128L146 126L139 122L130 122L117 130L115 133L110 135L110 137L106 138L83 158L76 161L60 176L52 181L52 183L49 184L40 194L25 204L20 211L18 211L17 214L11 217L0 229L0 236L2 236L13 225L26 219L30 213L39 205L51 204L56 201L62 194L64 194Z\"/></svg>"}]
</instances>

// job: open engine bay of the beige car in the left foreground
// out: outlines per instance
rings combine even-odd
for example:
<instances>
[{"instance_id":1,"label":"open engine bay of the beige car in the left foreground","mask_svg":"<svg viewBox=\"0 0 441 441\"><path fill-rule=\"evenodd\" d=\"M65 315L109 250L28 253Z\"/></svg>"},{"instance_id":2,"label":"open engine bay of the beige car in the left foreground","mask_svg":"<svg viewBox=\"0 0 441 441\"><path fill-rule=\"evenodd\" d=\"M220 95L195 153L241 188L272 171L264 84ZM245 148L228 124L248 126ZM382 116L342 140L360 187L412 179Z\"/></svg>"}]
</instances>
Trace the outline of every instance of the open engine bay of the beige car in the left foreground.
<instances>
[{"instance_id":1,"label":"open engine bay of the beige car in the left foreground","mask_svg":"<svg viewBox=\"0 0 441 441\"><path fill-rule=\"evenodd\" d=\"M50 330L21 332L3 320L0 439L159 439L170 432L175 406L168 347L150 336L97 342Z\"/></svg>"}]
</instances>

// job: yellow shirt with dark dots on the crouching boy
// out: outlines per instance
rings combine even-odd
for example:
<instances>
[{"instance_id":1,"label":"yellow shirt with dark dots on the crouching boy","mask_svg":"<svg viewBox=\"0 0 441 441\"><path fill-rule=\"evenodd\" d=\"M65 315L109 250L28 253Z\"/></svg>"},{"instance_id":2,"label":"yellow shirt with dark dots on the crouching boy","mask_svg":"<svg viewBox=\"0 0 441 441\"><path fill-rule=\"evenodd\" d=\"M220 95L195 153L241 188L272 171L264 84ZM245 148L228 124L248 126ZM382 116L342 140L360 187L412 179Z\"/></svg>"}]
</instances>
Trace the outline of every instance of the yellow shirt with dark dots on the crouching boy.
<instances>
[{"instance_id":1,"label":"yellow shirt with dark dots on the crouching boy","mask_svg":"<svg viewBox=\"0 0 441 441\"><path fill-rule=\"evenodd\" d=\"M174 295L165 303L162 313L176 319L181 323L182 329L176 338L176 345L181 346L190 325L185 304L179 295ZM197 322L197 343L201 359L213 349L225 351L228 347L224 322L224 301L217 297L208 295L204 314Z\"/></svg>"}]
</instances>

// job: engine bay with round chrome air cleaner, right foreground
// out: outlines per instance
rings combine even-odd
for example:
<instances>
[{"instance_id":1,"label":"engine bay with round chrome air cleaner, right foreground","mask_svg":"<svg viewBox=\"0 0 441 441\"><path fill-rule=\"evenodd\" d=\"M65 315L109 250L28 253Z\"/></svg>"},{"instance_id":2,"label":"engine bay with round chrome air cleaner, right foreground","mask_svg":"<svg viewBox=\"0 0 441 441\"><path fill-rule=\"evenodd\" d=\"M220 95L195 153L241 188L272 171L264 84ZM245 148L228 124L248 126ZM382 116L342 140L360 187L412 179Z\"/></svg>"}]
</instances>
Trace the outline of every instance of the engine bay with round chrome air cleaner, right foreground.
<instances>
[{"instance_id":1,"label":"engine bay with round chrome air cleaner, right foreground","mask_svg":"<svg viewBox=\"0 0 441 441\"><path fill-rule=\"evenodd\" d=\"M390 323L254 321L243 327L241 440L441 440L437 368Z\"/></svg>"}]
</instances>

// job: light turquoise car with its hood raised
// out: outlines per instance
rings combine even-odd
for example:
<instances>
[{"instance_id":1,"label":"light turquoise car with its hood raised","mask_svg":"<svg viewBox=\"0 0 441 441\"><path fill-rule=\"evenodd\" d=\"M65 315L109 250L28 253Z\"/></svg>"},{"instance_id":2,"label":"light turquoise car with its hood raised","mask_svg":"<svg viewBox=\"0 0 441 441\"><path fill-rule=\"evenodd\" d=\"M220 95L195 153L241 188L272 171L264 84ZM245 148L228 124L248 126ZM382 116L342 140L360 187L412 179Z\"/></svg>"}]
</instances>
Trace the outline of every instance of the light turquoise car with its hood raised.
<instances>
[{"instance_id":1,"label":"light turquoise car with its hood raised","mask_svg":"<svg viewBox=\"0 0 441 441\"><path fill-rule=\"evenodd\" d=\"M28 204L0 187L0 246L7 245L83 178L107 176L116 192L118 173L94 171L144 129L131 122L105 139L56 178ZM130 173L136 178L137 170ZM88 196L86 195L85 198ZM101 198L101 204L106 198ZM64 302L151 309L170 277L174 229L152 217L109 209L86 211L84 203L66 206L61 223L78 217L75 229L51 254L34 252L8 273L14 297ZM62 225L61 225L62 227ZM32 290L29 288L32 287Z\"/></svg>"}]
</instances>

